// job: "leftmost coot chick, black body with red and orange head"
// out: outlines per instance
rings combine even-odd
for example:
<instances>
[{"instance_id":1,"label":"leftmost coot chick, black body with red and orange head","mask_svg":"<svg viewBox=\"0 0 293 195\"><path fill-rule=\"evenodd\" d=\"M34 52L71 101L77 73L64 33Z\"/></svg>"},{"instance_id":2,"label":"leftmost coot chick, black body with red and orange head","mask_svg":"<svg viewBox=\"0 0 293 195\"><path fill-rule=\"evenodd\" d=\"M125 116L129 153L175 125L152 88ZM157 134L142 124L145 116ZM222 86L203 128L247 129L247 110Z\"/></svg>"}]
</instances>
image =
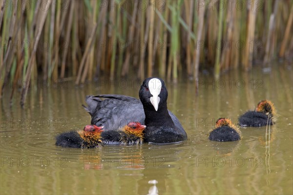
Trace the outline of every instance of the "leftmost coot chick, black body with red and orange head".
<instances>
[{"instance_id":1,"label":"leftmost coot chick, black body with red and orange head","mask_svg":"<svg viewBox=\"0 0 293 195\"><path fill-rule=\"evenodd\" d=\"M103 144L101 140L103 128L86 125L84 130L62 133L56 137L56 145L67 148L98 148Z\"/></svg>"}]
</instances>

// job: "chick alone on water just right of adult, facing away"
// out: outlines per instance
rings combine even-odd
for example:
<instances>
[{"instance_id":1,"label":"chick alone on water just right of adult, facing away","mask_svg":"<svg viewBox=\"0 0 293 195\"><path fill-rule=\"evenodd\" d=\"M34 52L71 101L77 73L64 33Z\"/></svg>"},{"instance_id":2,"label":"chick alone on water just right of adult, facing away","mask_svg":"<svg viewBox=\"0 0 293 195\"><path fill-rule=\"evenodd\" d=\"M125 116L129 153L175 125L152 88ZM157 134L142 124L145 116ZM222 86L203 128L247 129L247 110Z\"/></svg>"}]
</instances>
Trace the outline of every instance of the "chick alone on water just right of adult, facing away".
<instances>
[{"instance_id":1,"label":"chick alone on water just right of adult, facing away","mask_svg":"<svg viewBox=\"0 0 293 195\"><path fill-rule=\"evenodd\" d=\"M229 118L219 118L215 129L209 131L209 139L213 141L236 141L241 139L241 132Z\"/></svg>"}]
</instances>

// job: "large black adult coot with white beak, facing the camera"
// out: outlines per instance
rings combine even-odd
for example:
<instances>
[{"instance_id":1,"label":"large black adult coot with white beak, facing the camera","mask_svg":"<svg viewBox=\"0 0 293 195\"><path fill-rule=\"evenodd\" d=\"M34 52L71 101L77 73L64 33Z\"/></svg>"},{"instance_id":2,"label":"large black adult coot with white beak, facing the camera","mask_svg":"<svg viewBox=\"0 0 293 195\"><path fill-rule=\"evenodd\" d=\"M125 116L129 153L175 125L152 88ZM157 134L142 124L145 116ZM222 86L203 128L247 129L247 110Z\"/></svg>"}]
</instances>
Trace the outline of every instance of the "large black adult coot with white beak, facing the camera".
<instances>
[{"instance_id":1,"label":"large black adult coot with white beak, facing the camera","mask_svg":"<svg viewBox=\"0 0 293 195\"><path fill-rule=\"evenodd\" d=\"M161 78L146 78L139 99L122 95L87 96L91 124L104 126L105 132L117 130L128 122L146 125L145 142L174 143L187 139L177 117L167 110L168 92ZM100 98L106 98L104 100Z\"/></svg>"}]
</instances>

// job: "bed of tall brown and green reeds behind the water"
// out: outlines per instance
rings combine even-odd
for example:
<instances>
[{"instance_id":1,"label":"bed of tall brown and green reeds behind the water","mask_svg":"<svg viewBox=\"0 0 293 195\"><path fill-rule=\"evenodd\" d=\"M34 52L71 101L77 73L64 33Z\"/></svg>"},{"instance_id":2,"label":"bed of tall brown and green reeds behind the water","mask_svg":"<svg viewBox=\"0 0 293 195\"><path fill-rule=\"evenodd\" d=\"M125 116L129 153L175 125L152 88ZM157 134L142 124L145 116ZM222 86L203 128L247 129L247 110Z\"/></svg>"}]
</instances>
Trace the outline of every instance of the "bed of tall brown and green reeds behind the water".
<instances>
[{"instance_id":1,"label":"bed of tall brown and green reeds behind the water","mask_svg":"<svg viewBox=\"0 0 293 195\"><path fill-rule=\"evenodd\" d=\"M2 0L0 94L6 82L137 78L243 68L292 57L290 0ZM11 97L17 85L12 85ZM21 85L24 103L29 82Z\"/></svg>"}]
</instances>

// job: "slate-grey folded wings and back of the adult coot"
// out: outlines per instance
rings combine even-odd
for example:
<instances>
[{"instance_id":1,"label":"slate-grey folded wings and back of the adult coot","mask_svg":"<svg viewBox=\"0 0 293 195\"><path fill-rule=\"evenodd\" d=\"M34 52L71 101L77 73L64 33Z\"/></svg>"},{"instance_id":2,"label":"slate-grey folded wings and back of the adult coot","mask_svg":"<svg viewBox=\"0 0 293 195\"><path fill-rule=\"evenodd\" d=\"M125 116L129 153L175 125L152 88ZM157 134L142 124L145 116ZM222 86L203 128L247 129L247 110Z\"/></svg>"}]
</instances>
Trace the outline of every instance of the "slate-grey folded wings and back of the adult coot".
<instances>
[{"instance_id":1,"label":"slate-grey folded wings and back of the adult coot","mask_svg":"<svg viewBox=\"0 0 293 195\"><path fill-rule=\"evenodd\" d=\"M105 98L105 99L100 99ZM86 96L85 101L88 107L85 110L92 116L91 124L98 127L104 126L104 130L117 130L125 126L128 122L138 121L145 124L145 113L141 101L137 98L132 98L123 95L97 95ZM173 113L168 110L175 126L185 133L179 120Z\"/></svg>"}]
</instances>

